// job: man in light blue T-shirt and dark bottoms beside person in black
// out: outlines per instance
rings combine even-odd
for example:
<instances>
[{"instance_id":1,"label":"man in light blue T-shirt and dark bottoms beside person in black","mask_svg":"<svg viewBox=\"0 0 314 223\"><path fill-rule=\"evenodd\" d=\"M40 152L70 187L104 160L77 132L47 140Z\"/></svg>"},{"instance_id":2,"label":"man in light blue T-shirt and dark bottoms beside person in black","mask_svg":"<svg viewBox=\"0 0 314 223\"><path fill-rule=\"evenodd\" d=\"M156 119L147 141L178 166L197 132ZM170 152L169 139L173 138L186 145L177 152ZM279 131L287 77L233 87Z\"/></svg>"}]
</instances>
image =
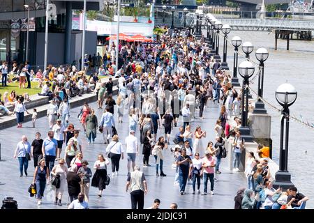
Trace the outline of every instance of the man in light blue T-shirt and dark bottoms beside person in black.
<instances>
[{"instance_id":1,"label":"man in light blue T-shirt and dark bottoms beside person in black","mask_svg":"<svg viewBox=\"0 0 314 223\"><path fill-rule=\"evenodd\" d=\"M50 171L54 168L54 159L57 155L58 150L57 140L54 139L54 131L48 132L48 137L43 141L42 153L46 161L46 166L50 167Z\"/></svg>"}]
</instances>

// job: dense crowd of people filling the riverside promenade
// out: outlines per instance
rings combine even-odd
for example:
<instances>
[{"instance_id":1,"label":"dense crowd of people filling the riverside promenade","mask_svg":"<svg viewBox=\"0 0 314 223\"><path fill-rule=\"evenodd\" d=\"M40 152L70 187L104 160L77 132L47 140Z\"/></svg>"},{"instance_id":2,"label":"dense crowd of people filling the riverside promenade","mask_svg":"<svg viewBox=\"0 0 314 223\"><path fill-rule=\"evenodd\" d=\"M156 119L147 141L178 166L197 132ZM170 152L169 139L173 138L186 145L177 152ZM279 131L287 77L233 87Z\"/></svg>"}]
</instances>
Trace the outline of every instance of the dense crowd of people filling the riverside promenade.
<instances>
[{"instance_id":1,"label":"dense crowd of people filling the riverside promenade","mask_svg":"<svg viewBox=\"0 0 314 223\"><path fill-rule=\"evenodd\" d=\"M86 80L89 79L89 84L95 83L91 90L97 94L98 109L103 109L104 105L105 108L103 115L97 117L95 109L85 102L78 116L82 130L74 128L69 119L71 112L68 100L73 96L70 81L75 82L73 77L76 75L76 68L68 68L65 71L51 68L54 70L53 77L57 75L58 80L53 82L54 95L47 110L47 124L50 129L47 138L40 139L38 132L36 139L30 144L27 136L23 136L15 151L15 157L18 157L20 162L20 176L23 176L23 170L27 175L28 162L33 157L36 167L33 184L36 184L38 190L36 194L38 205L41 204L45 184L52 182L56 205L62 205L61 199L68 187L71 201L69 208L87 207L89 187L98 187L98 197L102 197L103 190L110 180L107 165L111 162L110 176L118 176L121 169L119 162L126 157L128 161L126 191L130 192L131 208L144 208L144 195L149 190L149 184L137 162L137 155L141 150L143 168L151 166L149 157L153 155L156 177L166 177L163 164L169 153L165 151L171 148L176 171L174 185L179 185L178 194L181 195L186 194L188 180L191 180L193 185L193 194L214 195L214 185L217 180L215 176L223 174L219 167L225 157L227 140L232 141L233 171L239 171L241 157L245 153L245 141L239 132L241 121L237 118L241 113L241 92L237 92L231 85L230 75L220 69L220 63L214 60L204 39L196 40L190 33L186 34L181 36L179 32L174 32L172 35L165 33L156 45L120 43L119 55L115 55L115 51L112 50L111 61L106 63L109 62L110 66L114 66L116 56L122 62L119 62L118 71L112 73L118 79L117 100L112 98L113 79L111 78L107 83L101 82L97 79L97 69L95 74L87 77L85 75L86 70L89 69L87 63L87 69L77 76L79 86L84 89L79 93L90 88L85 85ZM107 56L104 57L108 59ZM88 60L84 60L84 66L86 61ZM103 65L100 65L100 62ZM100 65L98 72L101 75L105 61L99 60L97 64ZM105 67L110 70L110 66ZM47 71L48 69L50 68L47 68ZM49 89L48 84L50 83L45 84L47 85L45 89ZM204 118L205 107L216 103L220 106L220 112L216 125L211 129L215 133L215 138L209 141L208 133L202 130L204 127L202 123L195 129L192 126L197 119ZM123 122L125 114L128 116L128 124L123 125L128 125L129 134L120 141L115 127L117 120L119 123ZM236 125L230 124L233 121L232 116L235 116ZM177 130L179 131L176 132ZM103 144L106 144L94 162L94 173L87 167L89 162L83 159L84 150L82 150L82 138L79 139L80 132L84 132L89 144L94 144L100 132ZM267 155L264 146L258 148L258 153ZM57 165L54 165L56 161ZM241 199L242 208L246 208L251 202L253 191L260 194L260 190L264 191L268 188L269 192L265 193L269 196L280 192L280 190L275 192L271 190L271 180L266 180L270 178L267 159L257 160L254 153L251 153L246 163L245 174L248 178L248 189L242 191L244 194ZM201 179L203 180L202 192ZM306 197L302 198L299 195L299 198L306 201ZM82 203L83 201L86 203ZM158 199L155 201L154 203L160 203ZM298 200L290 199L290 201L295 203ZM267 208L270 206L267 202L257 201L255 206ZM297 203L299 204L299 201ZM154 204L154 207L156 206ZM173 203L171 206L177 205Z\"/></svg>"}]
</instances>

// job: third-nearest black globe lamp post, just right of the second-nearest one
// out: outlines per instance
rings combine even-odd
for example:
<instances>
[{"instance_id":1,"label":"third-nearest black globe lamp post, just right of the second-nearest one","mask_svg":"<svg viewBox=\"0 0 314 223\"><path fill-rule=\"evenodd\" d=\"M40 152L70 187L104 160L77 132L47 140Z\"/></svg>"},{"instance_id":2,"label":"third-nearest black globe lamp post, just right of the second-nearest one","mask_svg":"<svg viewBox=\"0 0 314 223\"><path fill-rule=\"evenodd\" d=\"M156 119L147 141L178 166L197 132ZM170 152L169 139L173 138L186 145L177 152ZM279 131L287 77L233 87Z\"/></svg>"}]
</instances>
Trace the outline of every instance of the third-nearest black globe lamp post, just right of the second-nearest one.
<instances>
[{"instance_id":1,"label":"third-nearest black globe lamp post, just right of the second-nearest one","mask_svg":"<svg viewBox=\"0 0 314 223\"><path fill-rule=\"evenodd\" d=\"M260 61L259 73L258 73L258 89L257 95L258 100L255 102L255 108L253 110L254 114L267 114L264 102L260 100L263 97L263 86L264 86L264 61L267 60L269 53L265 48L258 48L255 52L257 61Z\"/></svg>"}]
</instances>

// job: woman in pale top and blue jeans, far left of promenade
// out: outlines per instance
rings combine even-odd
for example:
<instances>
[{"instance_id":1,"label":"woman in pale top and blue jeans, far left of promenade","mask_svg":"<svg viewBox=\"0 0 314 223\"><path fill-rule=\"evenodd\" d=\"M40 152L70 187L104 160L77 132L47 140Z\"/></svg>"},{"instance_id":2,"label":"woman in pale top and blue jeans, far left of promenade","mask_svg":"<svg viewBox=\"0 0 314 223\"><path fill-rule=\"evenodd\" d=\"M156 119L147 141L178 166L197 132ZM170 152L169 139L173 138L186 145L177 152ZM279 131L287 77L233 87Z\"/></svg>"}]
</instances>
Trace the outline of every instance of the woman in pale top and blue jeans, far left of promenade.
<instances>
[{"instance_id":1,"label":"woman in pale top and blue jeans, far left of promenade","mask_svg":"<svg viewBox=\"0 0 314 223\"><path fill-rule=\"evenodd\" d=\"M29 160L31 159L31 144L29 144L25 135L22 136L22 141L16 146L14 158L16 157L19 159L20 176L23 176L23 167L25 176L27 176L27 168L29 167Z\"/></svg>"}]
</instances>

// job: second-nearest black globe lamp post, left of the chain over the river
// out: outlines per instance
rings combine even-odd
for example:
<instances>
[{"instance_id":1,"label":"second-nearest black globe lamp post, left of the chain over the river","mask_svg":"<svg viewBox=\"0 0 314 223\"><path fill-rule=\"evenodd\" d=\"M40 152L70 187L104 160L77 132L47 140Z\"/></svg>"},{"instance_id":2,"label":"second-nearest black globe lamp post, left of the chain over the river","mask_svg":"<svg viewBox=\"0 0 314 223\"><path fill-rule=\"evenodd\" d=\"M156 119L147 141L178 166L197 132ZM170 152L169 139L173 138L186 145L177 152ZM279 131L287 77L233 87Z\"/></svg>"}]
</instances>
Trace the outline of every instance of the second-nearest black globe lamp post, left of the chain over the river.
<instances>
[{"instance_id":1,"label":"second-nearest black globe lamp post, left of the chain over the river","mask_svg":"<svg viewBox=\"0 0 314 223\"><path fill-rule=\"evenodd\" d=\"M248 79L254 74L255 67L250 61L243 61L239 65L239 74L243 77L242 84L242 101L241 101L241 137L245 141L253 141L253 137L250 134L250 128L248 127L248 88L246 85L249 84Z\"/></svg>"}]
</instances>

